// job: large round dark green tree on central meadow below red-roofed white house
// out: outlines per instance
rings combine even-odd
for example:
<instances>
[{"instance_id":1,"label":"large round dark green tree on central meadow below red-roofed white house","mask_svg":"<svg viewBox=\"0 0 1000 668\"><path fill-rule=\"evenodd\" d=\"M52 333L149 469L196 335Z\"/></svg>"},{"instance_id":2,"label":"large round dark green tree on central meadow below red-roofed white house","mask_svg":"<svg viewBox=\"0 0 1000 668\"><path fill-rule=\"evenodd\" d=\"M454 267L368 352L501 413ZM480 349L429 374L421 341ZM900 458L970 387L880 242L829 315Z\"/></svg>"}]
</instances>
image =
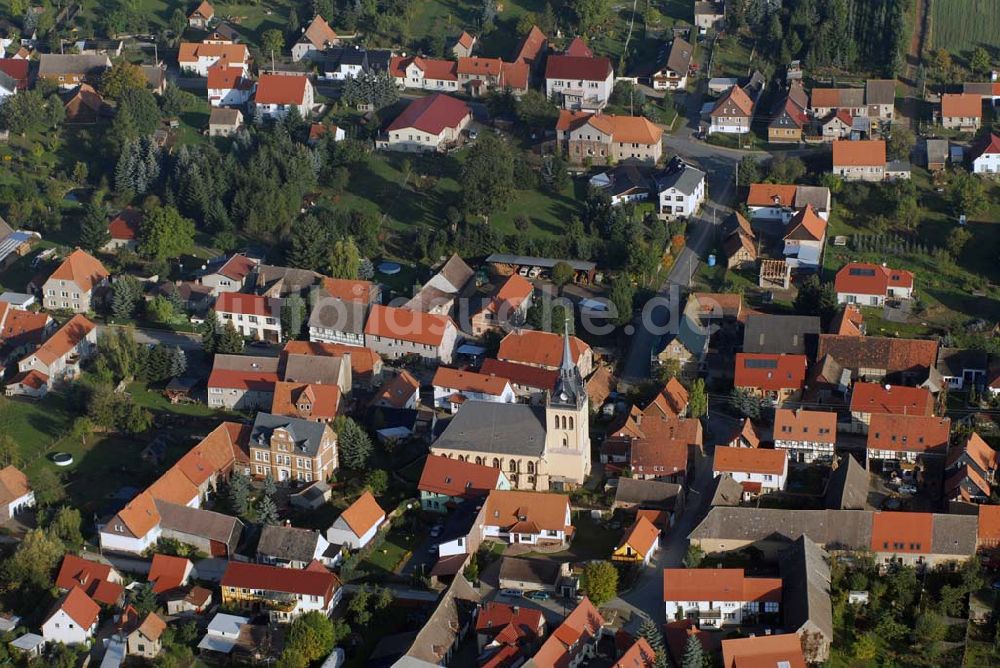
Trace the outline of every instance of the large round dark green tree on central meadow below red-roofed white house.
<instances>
[{"instance_id":1,"label":"large round dark green tree on central meadow below red-roofed white house","mask_svg":"<svg viewBox=\"0 0 1000 668\"><path fill-rule=\"evenodd\" d=\"M506 206L514 192L514 157L510 147L486 133L462 166L462 203L470 213L489 215Z\"/></svg>"}]
</instances>

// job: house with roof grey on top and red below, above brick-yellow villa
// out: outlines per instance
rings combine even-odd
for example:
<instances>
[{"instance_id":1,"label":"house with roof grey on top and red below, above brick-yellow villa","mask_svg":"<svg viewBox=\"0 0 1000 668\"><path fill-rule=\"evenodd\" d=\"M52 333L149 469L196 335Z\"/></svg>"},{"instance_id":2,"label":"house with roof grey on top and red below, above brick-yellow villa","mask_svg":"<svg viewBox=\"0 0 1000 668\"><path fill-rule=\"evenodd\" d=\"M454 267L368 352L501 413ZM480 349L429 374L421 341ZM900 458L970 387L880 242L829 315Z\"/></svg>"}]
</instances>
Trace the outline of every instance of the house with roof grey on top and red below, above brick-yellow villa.
<instances>
[{"instance_id":1,"label":"house with roof grey on top and red below, above brick-yellow villa","mask_svg":"<svg viewBox=\"0 0 1000 668\"><path fill-rule=\"evenodd\" d=\"M275 357L216 355L208 377L208 405L247 411L271 406L278 364Z\"/></svg>"}]
</instances>

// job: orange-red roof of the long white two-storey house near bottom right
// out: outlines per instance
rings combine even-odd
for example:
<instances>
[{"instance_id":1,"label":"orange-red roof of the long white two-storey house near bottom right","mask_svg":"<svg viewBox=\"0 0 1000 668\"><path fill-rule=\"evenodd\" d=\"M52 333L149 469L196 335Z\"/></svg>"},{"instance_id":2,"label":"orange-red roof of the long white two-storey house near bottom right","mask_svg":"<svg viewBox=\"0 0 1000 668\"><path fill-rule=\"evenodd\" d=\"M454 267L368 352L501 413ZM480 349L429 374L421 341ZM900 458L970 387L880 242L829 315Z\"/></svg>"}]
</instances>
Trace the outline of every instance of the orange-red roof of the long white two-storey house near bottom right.
<instances>
[{"instance_id":1,"label":"orange-red roof of the long white two-storey house near bottom right","mask_svg":"<svg viewBox=\"0 0 1000 668\"><path fill-rule=\"evenodd\" d=\"M781 578L748 578L742 568L664 568L663 600L780 601Z\"/></svg>"}]
</instances>

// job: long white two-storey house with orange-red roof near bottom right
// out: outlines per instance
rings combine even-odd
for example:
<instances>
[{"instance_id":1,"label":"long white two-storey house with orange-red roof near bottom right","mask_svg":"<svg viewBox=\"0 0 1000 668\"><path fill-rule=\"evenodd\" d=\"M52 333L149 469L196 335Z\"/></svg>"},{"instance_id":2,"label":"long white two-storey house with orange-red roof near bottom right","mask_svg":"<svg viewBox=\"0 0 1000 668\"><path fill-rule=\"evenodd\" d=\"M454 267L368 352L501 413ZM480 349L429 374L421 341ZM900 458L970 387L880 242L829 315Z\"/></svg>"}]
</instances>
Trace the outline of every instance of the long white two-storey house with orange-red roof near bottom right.
<instances>
[{"instance_id":1,"label":"long white two-storey house with orange-red roof near bottom right","mask_svg":"<svg viewBox=\"0 0 1000 668\"><path fill-rule=\"evenodd\" d=\"M663 603L667 621L740 626L781 611L781 578L750 578L742 568L665 568Z\"/></svg>"}]
</instances>

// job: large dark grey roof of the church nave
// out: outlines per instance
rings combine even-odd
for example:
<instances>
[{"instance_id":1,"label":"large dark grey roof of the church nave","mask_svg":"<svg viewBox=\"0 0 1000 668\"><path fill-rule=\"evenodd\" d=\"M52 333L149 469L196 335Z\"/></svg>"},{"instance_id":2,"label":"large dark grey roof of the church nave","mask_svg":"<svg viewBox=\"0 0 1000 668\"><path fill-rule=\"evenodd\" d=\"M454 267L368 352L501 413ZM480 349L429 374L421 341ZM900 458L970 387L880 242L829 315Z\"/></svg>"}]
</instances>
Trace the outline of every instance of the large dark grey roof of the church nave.
<instances>
[{"instance_id":1,"label":"large dark grey roof of the church nave","mask_svg":"<svg viewBox=\"0 0 1000 668\"><path fill-rule=\"evenodd\" d=\"M538 457L545 447L545 407L466 402L432 447Z\"/></svg>"}]
</instances>

